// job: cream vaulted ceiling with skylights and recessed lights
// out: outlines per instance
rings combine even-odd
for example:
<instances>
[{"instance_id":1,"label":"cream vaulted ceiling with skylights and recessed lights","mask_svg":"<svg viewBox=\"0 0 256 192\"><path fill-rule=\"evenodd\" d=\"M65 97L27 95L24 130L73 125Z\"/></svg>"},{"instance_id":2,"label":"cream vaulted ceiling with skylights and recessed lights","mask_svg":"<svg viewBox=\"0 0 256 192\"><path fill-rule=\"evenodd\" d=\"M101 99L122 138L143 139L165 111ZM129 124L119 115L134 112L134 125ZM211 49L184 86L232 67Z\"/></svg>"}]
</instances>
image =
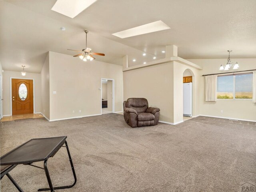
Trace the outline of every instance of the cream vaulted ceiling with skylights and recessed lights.
<instances>
[{"instance_id":1,"label":"cream vaulted ceiling with skylights and recessed lights","mask_svg":"<svg viewBox=\"0 0 256 192\"><path fill-rule=\"evenodd\" d=\"M0 1L0 62L4 70L40 73L48 51L88 47L96 60L130 66L164 58L165 45L178 56L256 58L255 0L98 0L75 18L51 10L56 0ZM170 29L129 38L112 34L162 20ZM60 30L64 26L66 31ZM146 53L146 56L142 56ZM78 59L78 58L74 58ZM136 62L132 60L136 59Z\"/></svg>"}]
</instances>

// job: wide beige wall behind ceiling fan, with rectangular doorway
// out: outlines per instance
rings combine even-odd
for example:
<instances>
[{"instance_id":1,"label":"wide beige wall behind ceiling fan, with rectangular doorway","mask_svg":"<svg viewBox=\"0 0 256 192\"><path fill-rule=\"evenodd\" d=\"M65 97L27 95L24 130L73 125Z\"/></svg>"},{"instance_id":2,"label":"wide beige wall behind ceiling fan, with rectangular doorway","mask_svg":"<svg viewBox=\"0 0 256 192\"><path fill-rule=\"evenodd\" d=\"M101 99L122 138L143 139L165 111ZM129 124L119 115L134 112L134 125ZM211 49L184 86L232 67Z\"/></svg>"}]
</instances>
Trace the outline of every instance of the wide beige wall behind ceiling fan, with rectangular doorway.
<instances>
[{"instance_id":1,"label":"wide beige wall behind ceiling fan, with rectangular doorway","mask_svg":"<svg viewBox=\"0 0 256 192\"><path fill-rule=\"evenodd\" d=\"M100 114L101 78L115 80L115 112L122 111L122 66L55 52L49 52L49 60L50 120Z\"/></svg>"}]
</instances>

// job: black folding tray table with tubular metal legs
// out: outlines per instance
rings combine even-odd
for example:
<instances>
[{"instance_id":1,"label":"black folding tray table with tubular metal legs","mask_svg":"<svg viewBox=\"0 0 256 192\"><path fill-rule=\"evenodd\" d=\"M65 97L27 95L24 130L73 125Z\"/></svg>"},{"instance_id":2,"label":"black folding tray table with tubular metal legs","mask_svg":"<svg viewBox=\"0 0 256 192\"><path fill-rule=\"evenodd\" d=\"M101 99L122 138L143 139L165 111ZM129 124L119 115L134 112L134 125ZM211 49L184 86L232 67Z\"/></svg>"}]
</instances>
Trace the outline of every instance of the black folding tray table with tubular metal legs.
<instances>
[{"instance_id":1,"label":"black folding tray table with tubular metal legs","mask_svg":"<svg viewBox=\"0 0 256 192\"><path fill-rule=\"evenodd\" d=\"M72 158L70 156L66 138L67 136L31 139L28 142L18 146L14 150L2 156L0 158L0 164L1 165L24 164L24 165L30 165L36 168L44 169L50 188L42 188L42 189L38 189L38 191L51 190L51 192L54 192L55 189L71 188L76 184L76 172L74 170L74 165L72 162ZM63 146L64 144L65 146ZM50 157L53 157L61 147L66 147L68 151L68 157L69 157L70 165L71 165L73 176L74 176L74 183L68 186L53 187L50 174L47 168L47 161ZM32 165L32 163L39 162L39 161L44 161L44 168Z\"/></svg>"}]
</instances>

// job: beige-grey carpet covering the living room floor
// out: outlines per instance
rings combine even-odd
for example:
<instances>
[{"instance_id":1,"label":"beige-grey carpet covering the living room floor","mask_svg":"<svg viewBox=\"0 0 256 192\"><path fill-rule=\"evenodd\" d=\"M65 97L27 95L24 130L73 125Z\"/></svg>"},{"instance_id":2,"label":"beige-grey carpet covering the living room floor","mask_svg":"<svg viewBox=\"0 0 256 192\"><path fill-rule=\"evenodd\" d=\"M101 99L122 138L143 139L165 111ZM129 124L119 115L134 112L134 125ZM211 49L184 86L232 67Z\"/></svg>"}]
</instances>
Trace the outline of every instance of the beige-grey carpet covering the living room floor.
<instances>
[{"instance_id":1,"label":"beige-grey carpet covering the living room floor","mask_svg":"<svg viewBox=\"0 0 256 192\"><path fill-rule=\"evenodd\" d=\"M237 192L256 182L256 123L197 117L130 128L119 114L0 123L1 156L31 138L64 136L78 177L58 192ZM42 166L42 162L36 163ZM66 148L48 162L54 186L73 182ZM24 192L47 187L44 170L10 172ZM16 192L6 176L1 192Z\"/></svg>"}]
</instances>

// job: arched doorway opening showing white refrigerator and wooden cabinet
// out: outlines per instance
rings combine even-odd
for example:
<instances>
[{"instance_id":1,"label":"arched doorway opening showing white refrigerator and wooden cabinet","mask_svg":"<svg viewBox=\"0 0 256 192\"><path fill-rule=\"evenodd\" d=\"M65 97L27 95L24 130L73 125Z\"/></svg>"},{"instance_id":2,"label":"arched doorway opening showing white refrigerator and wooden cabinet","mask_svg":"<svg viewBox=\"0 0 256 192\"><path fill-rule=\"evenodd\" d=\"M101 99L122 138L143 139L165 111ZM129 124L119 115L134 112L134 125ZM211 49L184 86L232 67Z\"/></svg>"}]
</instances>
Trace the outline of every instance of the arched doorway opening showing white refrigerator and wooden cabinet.
<instances>
[{"instance_id":1,"label":"arched doorway opening showing white refrigerator and wooden cabinet","mask_svg":"<svg viewBox=\"0 0 256 192\"><path fill-rule=\"evenodd\" d=\"M193 75L189 69L183 73L183 121L192 118Z\"/></svg>"}]
</instances>

